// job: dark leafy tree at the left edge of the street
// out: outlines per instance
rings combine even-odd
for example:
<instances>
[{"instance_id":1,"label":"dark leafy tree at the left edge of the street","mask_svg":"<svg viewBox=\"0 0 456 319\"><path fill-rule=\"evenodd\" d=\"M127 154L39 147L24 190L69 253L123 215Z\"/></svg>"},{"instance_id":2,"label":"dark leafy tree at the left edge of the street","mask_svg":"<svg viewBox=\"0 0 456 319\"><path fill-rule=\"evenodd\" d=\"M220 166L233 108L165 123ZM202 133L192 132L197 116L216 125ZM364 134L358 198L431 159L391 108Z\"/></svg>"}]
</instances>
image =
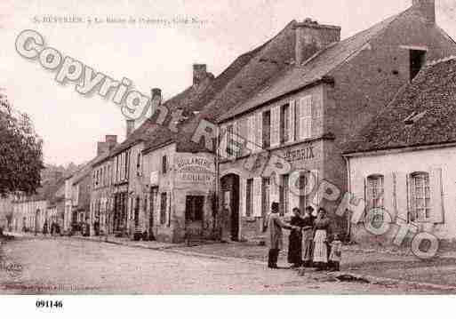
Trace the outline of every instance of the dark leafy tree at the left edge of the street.
<instances>
[{"instance_id":1,"label":"dark leafy tree at the left edge of the street","mask_svg":"<svg viewBox=\"0 0 456 319\"><path fill-rule=\"evenodd\" d=\"M0 92L0 195L35 194L43 168L43 140L30 117Z\"/></svg>"}]
</instances>

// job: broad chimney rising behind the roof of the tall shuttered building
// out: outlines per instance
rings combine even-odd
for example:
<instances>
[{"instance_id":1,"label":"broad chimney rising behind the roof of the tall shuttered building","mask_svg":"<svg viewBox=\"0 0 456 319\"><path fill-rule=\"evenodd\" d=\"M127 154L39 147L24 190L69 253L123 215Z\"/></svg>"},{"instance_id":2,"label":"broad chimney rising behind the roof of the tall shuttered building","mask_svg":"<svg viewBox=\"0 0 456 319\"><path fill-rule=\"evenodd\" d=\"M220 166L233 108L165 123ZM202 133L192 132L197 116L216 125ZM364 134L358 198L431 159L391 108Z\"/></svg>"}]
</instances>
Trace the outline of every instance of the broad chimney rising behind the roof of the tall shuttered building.
<instances>
[{"instance_id":1,"label":"broad chimney rising behind the roof of the tall shuttered building","mask_svg":"<svg viewBox=\"0 0 456 319\"><path fill-rule=\"evenodd\" d=\"M318 24L316 21L306 19L297 22L294 28L296 30L296 65L301 65L327 45L340 41L340 27L337 26Z\"/></svg>"}]
</instances>

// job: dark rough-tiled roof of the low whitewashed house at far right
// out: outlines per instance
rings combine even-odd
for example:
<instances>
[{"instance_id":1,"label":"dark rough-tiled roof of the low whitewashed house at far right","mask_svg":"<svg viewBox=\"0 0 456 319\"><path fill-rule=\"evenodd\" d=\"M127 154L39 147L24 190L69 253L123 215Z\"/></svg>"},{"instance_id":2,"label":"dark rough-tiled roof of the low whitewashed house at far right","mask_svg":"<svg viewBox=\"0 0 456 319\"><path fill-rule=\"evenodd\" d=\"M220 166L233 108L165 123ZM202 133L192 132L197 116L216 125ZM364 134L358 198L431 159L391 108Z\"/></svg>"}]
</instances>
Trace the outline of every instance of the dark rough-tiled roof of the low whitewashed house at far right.
<instances>
[{"instance_id":1,"label":"dark rough-tiled roof of the low whitewashed house at far right","mask_svg":"<svg viewBox=\"0 0 456 319\"><path fill-rule=\"evenodd\" d=\"M423 68L346 153L456 142L456 58Z\"/></svg>"}]
</instances>

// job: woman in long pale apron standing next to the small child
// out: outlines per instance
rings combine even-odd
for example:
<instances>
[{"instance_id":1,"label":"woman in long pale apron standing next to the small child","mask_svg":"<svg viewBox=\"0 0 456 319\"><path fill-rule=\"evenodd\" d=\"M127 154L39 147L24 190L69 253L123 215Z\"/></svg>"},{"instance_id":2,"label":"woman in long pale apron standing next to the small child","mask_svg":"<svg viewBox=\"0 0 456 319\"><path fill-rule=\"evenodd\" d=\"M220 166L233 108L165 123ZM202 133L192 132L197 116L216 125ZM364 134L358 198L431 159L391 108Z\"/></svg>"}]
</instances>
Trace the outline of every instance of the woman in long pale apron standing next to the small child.
<instances>
[{"instance_id":1,"label":"woman in long pale apron standing next to the small child","mask_svg":"<svg viewBox=\"0 0 456 319\"><path fill-rule=\"evenodd\" d=\"M328 237L331 220L324 208L320 208L315 220L314 266L322 270L328 267Z\"/></svg>"}]
</instances>

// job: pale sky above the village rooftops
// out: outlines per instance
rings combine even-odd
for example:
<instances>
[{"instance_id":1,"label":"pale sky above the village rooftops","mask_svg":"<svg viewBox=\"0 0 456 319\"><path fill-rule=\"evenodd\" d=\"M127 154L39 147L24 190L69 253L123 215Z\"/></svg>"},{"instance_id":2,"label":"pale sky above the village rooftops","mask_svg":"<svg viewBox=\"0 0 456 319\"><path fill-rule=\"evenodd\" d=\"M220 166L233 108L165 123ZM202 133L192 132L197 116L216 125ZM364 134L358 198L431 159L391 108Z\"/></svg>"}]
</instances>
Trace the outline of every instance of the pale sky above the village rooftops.
<instances>
[{"instance_id":1,"label":"pale sky above the village rooftops","mask_svg":"<svg viewBox=\"0 0 456 319\"><path fill-rule=\"evenodd\" d=\"M338 25L342 39L402 12L412 0L2 0L0 2L0 88L14 108L32 118L44 140L44 162L84 163L107 134L125 137L125 118L116 104L58 84L55 72L14 49L24 29L45 44L116 80L127 77L145 94L162 89L164 99L192 82L193 63L218 76L237 56L275 36L291 20L310 17ZM437 24L456 39L455 0L436 0ZM84 23L44 23L47 16L77 16ZM98 18L105 21L94 24ZM135 24L107 19L135 19ZM140 24L140 19L169 24ZM190 19L196 23L183 23ZM92 20L89 24L88 20Z\"/></svg>"}]
</instances>

